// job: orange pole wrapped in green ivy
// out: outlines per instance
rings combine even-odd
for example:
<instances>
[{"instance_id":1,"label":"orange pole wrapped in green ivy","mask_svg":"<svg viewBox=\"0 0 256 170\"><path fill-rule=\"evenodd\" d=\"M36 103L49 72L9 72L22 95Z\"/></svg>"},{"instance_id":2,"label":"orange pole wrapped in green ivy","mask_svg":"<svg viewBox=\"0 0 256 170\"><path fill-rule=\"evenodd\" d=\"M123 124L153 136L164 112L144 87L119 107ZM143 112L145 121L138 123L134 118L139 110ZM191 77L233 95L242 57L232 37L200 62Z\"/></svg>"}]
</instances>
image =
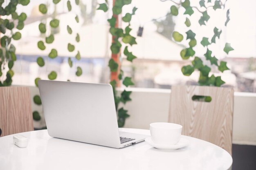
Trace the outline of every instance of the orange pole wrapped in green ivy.
<instances>
[{"instance_id":1,"label":"orange pole wrapped in green ivy","mask_svg":"<svg viewBox=\"0 0 256 170\"><path fill-rule=\"evenodd\" d=\"M113 0L113 7L114 6L115 6L115 0ZM116 18L115 28L118 28L119 26L121 26L121 21L119 20L118 15L114 14L113 17ZM112 42L115 42L115 36L112 36ZM117 68L116 72L111 72L110 79L111 79L111 81L115 80L117 82L117 87L121 86L120 80L118 79L118 75L120 74L120 69L121 69L121 62L119 60L120 59L120 54L121 54L121 49L120 49L119 53L117 53L117 54L112 53L111 54L111 58L115 62L117 62L118 68Z\"/></svg>"}]
</instances>

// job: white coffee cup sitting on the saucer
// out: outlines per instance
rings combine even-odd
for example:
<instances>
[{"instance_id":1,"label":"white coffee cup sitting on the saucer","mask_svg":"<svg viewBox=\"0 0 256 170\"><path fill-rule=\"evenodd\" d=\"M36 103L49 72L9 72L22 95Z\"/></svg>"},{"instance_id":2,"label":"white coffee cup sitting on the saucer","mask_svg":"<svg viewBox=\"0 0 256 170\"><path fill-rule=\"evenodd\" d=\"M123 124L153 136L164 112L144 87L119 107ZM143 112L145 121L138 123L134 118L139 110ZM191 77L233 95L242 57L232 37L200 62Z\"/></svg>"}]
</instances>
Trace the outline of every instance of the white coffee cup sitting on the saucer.
<instances>
[{"instance_id":1,"label":"white coffee cup sitting on the saucer","mask_svg":"<svg viewBox=\"0 0 256 170\"><path fill-rule=\"evenodd\" d=\"M179 124L156 122L150 124L151 139L156 144L174 145L180 140L182 126Z\"/></svg>"}]
</instances>

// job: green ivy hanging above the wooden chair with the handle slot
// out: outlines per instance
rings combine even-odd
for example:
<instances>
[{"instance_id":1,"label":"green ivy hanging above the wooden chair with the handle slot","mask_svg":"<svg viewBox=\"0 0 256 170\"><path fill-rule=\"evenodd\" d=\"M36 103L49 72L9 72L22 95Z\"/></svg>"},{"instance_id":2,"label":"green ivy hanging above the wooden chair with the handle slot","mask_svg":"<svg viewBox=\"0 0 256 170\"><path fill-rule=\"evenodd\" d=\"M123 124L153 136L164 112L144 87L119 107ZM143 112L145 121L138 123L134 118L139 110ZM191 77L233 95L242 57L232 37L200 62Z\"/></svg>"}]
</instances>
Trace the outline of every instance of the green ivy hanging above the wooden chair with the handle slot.
<instances>
[{"instance_id":1,"label":"green ivy hanging above the wooden chair with the handle slot","mask_svg":"<svg viewBox=\"0 0 256 170\"><path fill-rule=\"evenodd\" d=\"M162 1L165 1L165 0L162 0ZM216 10L226 11L227 19L225 22L225 26L227 26L227 23L230 20L229 9L225 8L225 3L227 2L227 0L225 1L225 3L222 3L220 0L207 0L207 2L205 0L200 0L199 1L200 8L191 6L189 0L184 0L180 2L175 2L173 0L171 1L174 3L174 5L171 6L171 14L173 16L186 15L186 20L184 21L184 24L188 27L188 29L191 26L191 24L194 24L194 23L191 23L190 17L191 15L193 15L195 11L201 13L201 17L198 20L198 23L200 24L200 26L206 25L208 20L210 19L210 15L208 15L207 13L209 9L213 9L214 11ZM180 10L179 10L180 8L185 9L185 12L183 14L180 14ZM227 62L218 61L218 59L212 55L212 51L209 48L211 45L216 43L216 38L220 39L221 33L222 33L222 30L220 28L215 27L213 29L213 35L211 37L207 36L207 37L203 37L202 40L198 40L195 37L196 34L191 29L189 29L186 32L186 40L184 40L184 36L181 33L179 33L178 31L173 31L172 36L176 42L189 41L189 47L186 49L183 49L180 52L182 59L188 60L190 58L193 58L193 61L190 65L182 67L183 75L189 76L195 70L198 70L200 72L200 77L198 80L198 83L200 85L221 86L222 84L225 83L220 76L216 77L213 74L209 76L211 67L208 66L209 64L212 66L215 65L220 72L229 70L229 68L227 67ZM198 42L200 42L200 44L205 49L204 57L207 61L209 61L208 65L204 64L203 60L201 60L200 57L195 56L195 51L193 48L199 44ZM234 49L230 46L229 43L226 43L225 46L223 47L223 50L225 51L225 53L228 54L229 51L232 51Z\"/></svg>"}]
</instances>

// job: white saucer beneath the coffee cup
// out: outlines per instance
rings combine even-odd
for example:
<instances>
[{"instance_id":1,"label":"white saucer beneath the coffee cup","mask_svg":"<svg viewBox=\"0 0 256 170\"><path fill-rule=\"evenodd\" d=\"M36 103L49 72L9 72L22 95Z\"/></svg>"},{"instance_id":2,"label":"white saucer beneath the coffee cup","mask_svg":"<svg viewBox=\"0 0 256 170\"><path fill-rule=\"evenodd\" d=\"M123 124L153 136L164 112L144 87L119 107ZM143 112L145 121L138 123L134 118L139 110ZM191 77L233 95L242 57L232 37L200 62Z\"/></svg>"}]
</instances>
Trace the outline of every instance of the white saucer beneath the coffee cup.
<instances>
[{"instance_id":1,"label":"white saucer beneath the coffee cup","mask_svg":"<svg viewBox=\"0 0 256 170\"><path fill-rule=\"evenodd\" d=\"M151 137L147 137L145 139L146 143L149 144L150 146L153 146L157 149L169 149L169 150L176 150L183 148L184 146L187 146L189 144L189 140L185 139L183 137L180 138L180 141L178 141L177 144L175 145L166 145L166 144L156 144L152 141Z\"/></svg>"}]
</instances>

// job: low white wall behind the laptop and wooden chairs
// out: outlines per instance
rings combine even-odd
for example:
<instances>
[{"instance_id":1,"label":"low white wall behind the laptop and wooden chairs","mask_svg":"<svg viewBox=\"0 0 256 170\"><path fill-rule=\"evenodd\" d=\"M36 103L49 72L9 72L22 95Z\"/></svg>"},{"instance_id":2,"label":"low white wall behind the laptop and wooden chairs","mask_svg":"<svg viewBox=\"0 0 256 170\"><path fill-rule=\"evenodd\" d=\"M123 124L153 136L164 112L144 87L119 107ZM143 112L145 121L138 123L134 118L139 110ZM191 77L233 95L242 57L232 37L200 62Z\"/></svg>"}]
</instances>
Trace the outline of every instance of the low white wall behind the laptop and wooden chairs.
<instances>
[{"instance_id":1,"label":"low white wall behind the laptop and wooden chairs","mask_svg":"<svg viewBox=\"0 0 256 170\"><path fill-rule=\"evenodd\" d=\"M38 88L29 87L31 98L39 94ZM171 90L150 88L127 88L132 91L131 102L124 108L130 117L126 119L126 128L149 129L152 122L167 122ZM41 106L32 102L32 110L41 111ZM34 126L45 126L42 121L34 121ZM233 143L256 145L256 93L235 93L233 116Z\"/></svg>"}]
</instances>

